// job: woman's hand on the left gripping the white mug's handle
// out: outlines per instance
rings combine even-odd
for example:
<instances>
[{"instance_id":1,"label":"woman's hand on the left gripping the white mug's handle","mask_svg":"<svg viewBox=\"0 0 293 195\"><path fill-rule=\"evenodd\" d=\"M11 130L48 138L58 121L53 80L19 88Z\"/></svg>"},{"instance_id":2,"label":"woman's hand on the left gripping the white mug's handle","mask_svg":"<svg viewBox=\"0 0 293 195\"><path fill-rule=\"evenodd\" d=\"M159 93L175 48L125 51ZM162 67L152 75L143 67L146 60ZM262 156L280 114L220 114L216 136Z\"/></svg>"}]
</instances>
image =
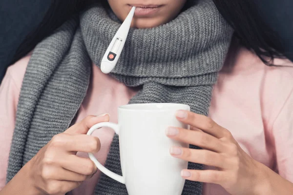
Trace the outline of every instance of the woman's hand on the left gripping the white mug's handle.
<instances>
[{"instance_id":1,"label":"woman's hand on the left gripping the white mug's handle","mask_svg":"<svg viewBox=\"0 0 293 195\"><path fill-rule=\"evenodd\" d=\"M76 156L76 153L96 153L100 150L99 138L87 136L86 133L94 124L106 121L109 121L107 114L85 117L54 136L27 163L29 178L40 194L64 195L97 172L89 158Z\"/></svg>"}]
</instances>

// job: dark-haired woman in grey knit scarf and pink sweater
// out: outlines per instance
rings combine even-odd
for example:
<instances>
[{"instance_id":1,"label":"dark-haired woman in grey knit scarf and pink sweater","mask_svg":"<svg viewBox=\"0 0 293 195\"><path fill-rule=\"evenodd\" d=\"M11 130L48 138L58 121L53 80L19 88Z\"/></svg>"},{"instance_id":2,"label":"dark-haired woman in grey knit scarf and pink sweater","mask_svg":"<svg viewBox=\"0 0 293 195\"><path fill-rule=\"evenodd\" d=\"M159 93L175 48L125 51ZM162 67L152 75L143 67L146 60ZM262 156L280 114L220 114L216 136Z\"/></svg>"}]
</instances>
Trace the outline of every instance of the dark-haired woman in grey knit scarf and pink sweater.
<instances>
[{"instance_id":1,"label":"dark-haired woman in grey knit scarf and pink sweater","mask_svg":"<svg viewBox=\"0 0 293 195\"><path fill-rule=\"evenodd\" d=\"M107 158L106 166L117 169L117 136L109 131L99 131L96 137L84 134L95 123L116 121L117 107L130 100L191 106L193 112L178 111L177 118L193 131L172 127L166 131L168 137L192 145L170 149L172 156L190 162L181 173L188 180L183 195L201 194L200 182L207 195L292 194L293 70L263 63L281 57L282 49L267 39L261 22L251 20L257 16L255 10L241 1L241 7L215 2L242 45L260 57L233 40L222 68L232 31L210 0L108 3L110 8L98 4L85 9L80 21L72 17L8 70L0 88L0 102L8 102L1 105L0 193L127 194L124 186L109 182L81 157L82 152L99 151L99 160L105 163ZM98 65L107 40L132 5L139 8L121 63L111 76L104 75ZM52 16L47 18L59 19ZM251 25L252 21L261 26ZM285 60L271 62L291 65ZM208 112L211 119L204 116ZM86 117L100 113L111 117ZM199 164L206 165L204 170ZM9 183L4 186L6 176Z\"/></svg>"}]
</instances>

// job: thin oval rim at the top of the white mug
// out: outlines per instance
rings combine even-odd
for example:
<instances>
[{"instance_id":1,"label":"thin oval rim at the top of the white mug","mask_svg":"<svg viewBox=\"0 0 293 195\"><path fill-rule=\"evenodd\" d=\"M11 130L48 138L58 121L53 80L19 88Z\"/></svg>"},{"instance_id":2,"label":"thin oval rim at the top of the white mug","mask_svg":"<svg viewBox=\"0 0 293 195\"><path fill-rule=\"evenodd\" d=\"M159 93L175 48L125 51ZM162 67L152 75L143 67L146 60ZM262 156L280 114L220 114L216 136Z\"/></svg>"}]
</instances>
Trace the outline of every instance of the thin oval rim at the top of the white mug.
<instances>
[{"instance_id":1,"label":"thin oval rim at the top of the white mug","mask_svg":"<svg viewBox=\"0 0 293 195\"><path fill-rule=\"evenodd\" d=\"M137 103L137 104L126 104L126 105L122 105L119 106L118 109L119 110L127 110L127 111L143 111L143 112L162 112L162 111L168 111L168 110L172 110L174 108L164 108L164 109L158 109L158 110L152 110L152 109L144 109L144 108L140 108L140 109L135 109L133 107L135 106L151 106L151 105L170 105L170 106L181 106L182 108L179 108L178 110L190 110L190 106L187 104L181 104L181 103ZM183 108L185 107L185 108Z\"/></svg>"}]
</instances>

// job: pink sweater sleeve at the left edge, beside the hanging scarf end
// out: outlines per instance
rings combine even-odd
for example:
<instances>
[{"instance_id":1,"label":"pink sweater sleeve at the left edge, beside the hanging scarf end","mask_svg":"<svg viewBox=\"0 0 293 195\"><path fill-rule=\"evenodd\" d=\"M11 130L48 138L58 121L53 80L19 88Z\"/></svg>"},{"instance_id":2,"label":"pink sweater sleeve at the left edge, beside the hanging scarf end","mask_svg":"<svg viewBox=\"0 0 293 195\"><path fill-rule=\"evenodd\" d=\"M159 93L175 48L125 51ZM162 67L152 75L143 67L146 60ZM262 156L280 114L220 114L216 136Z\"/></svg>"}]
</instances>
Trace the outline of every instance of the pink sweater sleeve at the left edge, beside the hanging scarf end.
<instances>
[{"instance_id":1,"label":"pink sweater sleeve at the left edge, beside the hanging scarf end","mask_svg":"<svg viewBox=\"0 0 293 195\"><path fill-rule=\"evenodd\" d=\"M21 84L30 56L11 65L0 85L0 190L6 184L6 173L13 137Z\"/></svg>"}]
</instances>

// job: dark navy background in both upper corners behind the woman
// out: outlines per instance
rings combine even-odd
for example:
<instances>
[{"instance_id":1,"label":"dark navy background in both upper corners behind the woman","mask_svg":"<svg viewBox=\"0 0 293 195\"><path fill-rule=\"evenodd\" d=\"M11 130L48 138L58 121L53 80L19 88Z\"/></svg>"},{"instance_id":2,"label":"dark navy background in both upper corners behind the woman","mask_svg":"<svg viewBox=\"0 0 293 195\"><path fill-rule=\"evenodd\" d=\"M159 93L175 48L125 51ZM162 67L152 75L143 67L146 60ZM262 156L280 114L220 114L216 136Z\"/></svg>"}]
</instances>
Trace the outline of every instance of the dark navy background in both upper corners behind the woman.
<instances>
[{"instance_id":1,"label":"dark navy background in both upper corners behind the woman","mask_svg":"<svg viewBox=\"0 0 293 195\"><path fill-rule=\"evenodd\" d=\"M253 0L272 29L282 37L293 60L293 0ZM42 20L51 0L0 0L0 82L25 36Z\"/></svg>"}]
</instances>

